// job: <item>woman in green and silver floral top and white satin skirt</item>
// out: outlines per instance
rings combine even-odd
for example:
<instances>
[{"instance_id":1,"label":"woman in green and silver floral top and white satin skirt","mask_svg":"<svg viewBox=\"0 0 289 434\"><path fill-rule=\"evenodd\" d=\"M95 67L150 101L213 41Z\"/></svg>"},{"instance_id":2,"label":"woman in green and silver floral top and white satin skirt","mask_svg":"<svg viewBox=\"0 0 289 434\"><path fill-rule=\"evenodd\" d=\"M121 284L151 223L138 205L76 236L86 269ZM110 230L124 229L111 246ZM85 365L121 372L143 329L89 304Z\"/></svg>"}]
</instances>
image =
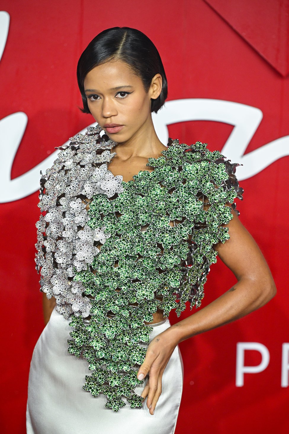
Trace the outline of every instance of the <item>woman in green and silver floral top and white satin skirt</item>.
<instances>
[{"instance_id":1,"label":"woman in green and silver floral top and white satin skirt","mask_svg":"<svg viewBox=\"0 0 289 434\"><path fill-rule=\"evenodd\" d=\"M239 164L201 142L159 141L151 113L167 82L153 43L128 27L104 30L77 77L81 110L98 125L60 148L41 180L47 325L31 361L27 432L174 433L179 342L260 308L275 283L232 204ZM171 325L172 309L200 306L217 254L238 282Z\"/></svg>"}]
</instances>

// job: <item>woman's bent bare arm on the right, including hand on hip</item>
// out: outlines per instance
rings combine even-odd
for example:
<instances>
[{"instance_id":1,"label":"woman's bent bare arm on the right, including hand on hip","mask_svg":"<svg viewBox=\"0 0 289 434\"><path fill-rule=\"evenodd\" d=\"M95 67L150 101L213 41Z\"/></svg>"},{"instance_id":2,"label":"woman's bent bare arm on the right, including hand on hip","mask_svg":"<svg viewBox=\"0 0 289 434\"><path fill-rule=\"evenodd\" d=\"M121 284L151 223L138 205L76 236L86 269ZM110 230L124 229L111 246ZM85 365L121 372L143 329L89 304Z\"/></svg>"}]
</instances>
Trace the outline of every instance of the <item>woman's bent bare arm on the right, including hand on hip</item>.
<instances>
[{"instance_id":1,"label":"woman's bent bare arm on the right, including hand on hip","mask_svg":"<svg viewBox=\"0 0 289 434\"><path fill-rule=\"evenodd\" d=\"M149 379L142 396L150 414L162 392L162 374L176 345L199 333L220 327L264 306L276 294L273 276L257 243L241 224L230 203L233 218L229 224L230 238L214 245L218 256L236 276L238 282L208 306L172 325L150 343L146 358L138 370ZM140 378L142 379L142 378Z\"/></svg>"}]
</instances>

